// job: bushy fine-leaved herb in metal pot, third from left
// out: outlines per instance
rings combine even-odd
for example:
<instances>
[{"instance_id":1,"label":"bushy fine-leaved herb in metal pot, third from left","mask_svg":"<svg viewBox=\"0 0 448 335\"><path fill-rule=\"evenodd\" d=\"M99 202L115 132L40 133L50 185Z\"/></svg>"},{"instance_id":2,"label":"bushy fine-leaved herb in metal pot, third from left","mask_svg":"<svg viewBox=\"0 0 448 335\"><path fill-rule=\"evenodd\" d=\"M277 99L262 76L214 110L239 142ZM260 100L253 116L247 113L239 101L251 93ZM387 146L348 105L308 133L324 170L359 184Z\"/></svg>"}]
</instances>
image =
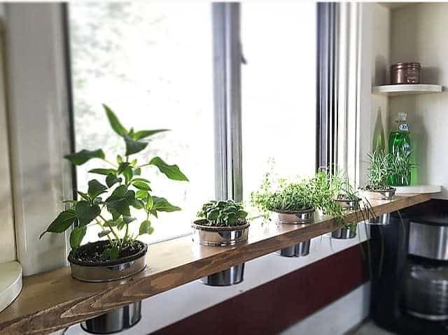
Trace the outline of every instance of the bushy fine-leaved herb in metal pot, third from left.
<instances>
[{"instance_id":1,"label":"bushy fine-leaved herb in metal pot, third from left","mask_svg":"<svg viewBox=\"0 0 448 335\"><path fill-rule=\"evenodd\" d=\"M314 191L309 179L287 182L271 180L266 173L260 189L251 193L251 204L265 218L278 224L310 224L314 220ZM275 186L274 186L275 185ZM283 248L277 253L284 257L302 257L309 254L311 240Z\"/></svg>"}]
</instances>

